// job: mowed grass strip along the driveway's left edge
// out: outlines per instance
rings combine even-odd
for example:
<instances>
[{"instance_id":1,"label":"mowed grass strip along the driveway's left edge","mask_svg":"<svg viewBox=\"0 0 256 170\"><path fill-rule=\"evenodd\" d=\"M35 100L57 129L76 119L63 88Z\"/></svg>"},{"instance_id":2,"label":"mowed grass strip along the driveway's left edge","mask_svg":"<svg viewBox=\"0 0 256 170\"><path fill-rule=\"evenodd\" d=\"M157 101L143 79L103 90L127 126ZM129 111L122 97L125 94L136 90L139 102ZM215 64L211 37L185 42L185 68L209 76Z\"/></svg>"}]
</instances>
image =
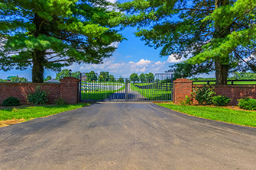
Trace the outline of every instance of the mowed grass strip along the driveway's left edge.
<instances>
[{"instance_id":1,"label":"mowed grass strip along the driveway's left edge","mask_svg":"<svg viewBox=\"0 0 256 170\"><path fill-rule=\"evenodd\" d=\"M0 120L24 119L31 120L37 117L46 117L53 114L59 114L64 111L74 110L76 108L85 107L89 104L73 104L63 106L33 106L19 107L0 110Z\"/></svg>"}]
</instances>

